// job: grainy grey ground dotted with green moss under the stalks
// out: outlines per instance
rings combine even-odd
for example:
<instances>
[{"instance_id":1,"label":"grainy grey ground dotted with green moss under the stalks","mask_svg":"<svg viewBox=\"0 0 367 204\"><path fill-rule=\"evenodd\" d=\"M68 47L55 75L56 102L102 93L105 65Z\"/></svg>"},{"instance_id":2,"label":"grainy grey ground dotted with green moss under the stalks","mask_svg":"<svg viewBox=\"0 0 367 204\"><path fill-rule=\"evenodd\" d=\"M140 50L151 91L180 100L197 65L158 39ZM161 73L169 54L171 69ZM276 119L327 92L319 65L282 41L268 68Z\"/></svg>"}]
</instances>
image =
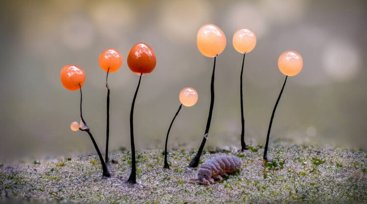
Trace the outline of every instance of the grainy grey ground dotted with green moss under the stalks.
<instances>
[{"instance_id":1,"label":"grainy grey ground dotted with green moss under the stalks","mask_svg":"<svg viewBox=\"0 0 367 204\"><path fill-rule=\"evenodd\" d=\"M244 153L207 151L240 157L243 165L224 181L189 181L198 169L187 165L194 152L172 151L163 169L162 150L137 152L138 184L125 182L131 154L111 153L115 176L103 178L96 155L2 165L0 203L366 203L367 154L338 148L270 149L274 162L262 163L262 147ZM282 162L284 160L284 164ZM37 162L35 162L37 163ZM0 164L1 165L1 164Z\"/></svg>"}]
</instances>

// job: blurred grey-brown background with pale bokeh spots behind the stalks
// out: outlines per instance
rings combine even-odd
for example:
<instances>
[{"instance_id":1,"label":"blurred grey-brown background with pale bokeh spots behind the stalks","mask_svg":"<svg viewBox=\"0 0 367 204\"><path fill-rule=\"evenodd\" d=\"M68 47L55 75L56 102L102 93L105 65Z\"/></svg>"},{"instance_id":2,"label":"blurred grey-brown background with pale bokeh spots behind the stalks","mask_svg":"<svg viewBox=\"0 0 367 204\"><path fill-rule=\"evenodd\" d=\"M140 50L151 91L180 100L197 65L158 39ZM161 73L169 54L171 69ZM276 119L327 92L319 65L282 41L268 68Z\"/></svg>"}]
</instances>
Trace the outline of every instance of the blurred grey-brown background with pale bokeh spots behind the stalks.
<instances>
[{"instance_id":1,"label":"blurred grey-brown background with pale bokeh spots behind the stalks","mask_svg":"<svg viewBox=\"0 0 367 204\"><path fill-rule=\"evenodd\" d=\"M245 141L265 143L276 97L284 81L279 55L303 57L275 113L271 145L367 147L367 2L365 0L2 0L0 6L0 162L94 153L79 118L79 91L60 81L64 65L84 69L83 116L102 152L106 131L106 72L99 54L116 48L122 67L111 73L110 149L130 150L129 114L138 75L127 67L130 48L144 42L157 56L142 77L135 104L136 148L164 148L179 92L193 87L199 101L183 107L169 148L197 149L210 103L213 58L196 46L198 29L218 25L227 46L217 58L215 105L206 148L239 148L242 54L234 32L252 29L257 45L244 69Z\"/></svg>"}]
</instances>

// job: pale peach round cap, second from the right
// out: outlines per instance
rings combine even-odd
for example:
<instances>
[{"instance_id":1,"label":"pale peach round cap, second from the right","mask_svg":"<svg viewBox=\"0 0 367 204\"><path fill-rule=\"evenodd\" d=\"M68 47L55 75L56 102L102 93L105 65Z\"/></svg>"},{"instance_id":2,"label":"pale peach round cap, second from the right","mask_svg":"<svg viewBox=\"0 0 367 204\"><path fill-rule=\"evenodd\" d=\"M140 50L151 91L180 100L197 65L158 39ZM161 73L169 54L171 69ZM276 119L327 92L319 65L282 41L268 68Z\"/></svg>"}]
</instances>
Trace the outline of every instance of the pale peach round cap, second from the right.
<instances>
[{"instance_id":1,"label":"pale peach round cap, second from the right","mask_svg":"<svg viewBox=\"0 0 367 204\"><path fill-rule=\"evenodd\" d=\"M256 36L249 28L241 28L233 35L233 47L237 52L251 52L256 45Z\"/></svg>"}]
</instances>

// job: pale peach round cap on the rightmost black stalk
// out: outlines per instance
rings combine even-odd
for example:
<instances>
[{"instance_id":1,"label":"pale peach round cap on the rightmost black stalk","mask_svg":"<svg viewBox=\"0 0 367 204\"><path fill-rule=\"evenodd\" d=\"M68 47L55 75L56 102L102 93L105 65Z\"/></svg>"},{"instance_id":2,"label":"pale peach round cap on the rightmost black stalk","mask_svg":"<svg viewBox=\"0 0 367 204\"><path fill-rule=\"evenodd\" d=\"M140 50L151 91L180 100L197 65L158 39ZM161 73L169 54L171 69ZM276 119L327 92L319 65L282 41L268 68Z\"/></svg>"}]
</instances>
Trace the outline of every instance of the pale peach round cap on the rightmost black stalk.
<instances>
[{"instance_id":1,"label":"pale peach round cap on the rightmost black stalk","mask_svg":"<svg viewBox=\"0 0 367 204\"><path fill-rule=\"evenodd\" d=\"M302 67L303 60L301 55L293 50L283 52L278 59L279 70L287 76L297 75Z\"/></svg>"}]
</instances>

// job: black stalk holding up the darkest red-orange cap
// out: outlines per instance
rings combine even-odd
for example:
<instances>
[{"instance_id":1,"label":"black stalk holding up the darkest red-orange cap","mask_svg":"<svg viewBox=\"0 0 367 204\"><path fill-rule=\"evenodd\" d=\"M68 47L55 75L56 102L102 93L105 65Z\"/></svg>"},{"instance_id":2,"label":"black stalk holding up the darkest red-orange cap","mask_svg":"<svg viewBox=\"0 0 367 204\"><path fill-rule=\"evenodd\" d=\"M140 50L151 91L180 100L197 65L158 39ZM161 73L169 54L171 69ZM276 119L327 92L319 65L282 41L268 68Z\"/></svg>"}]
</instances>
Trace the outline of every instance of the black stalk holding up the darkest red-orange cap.
<instances>
[{"instance_id":1,"label":"black stalk holding up the darkest red-orange cap","mask_svg":"<svg viewBox=\"0 0 367 204\"><path fill-rule=\"evenodd\" d=\"M131 104L131 110L130 110L131 174L130 174L130 177L127 181L131 184L137 183L137 166L136 166L136 163L135 163L133 115L134 115L135 99L137 98L137 94L138 94L138 90L139 90L142 75L143 75L143 73L140 74L137 91L135 91L134 98L133 98L133 103Z\"/></svg>"}]
</instances>

